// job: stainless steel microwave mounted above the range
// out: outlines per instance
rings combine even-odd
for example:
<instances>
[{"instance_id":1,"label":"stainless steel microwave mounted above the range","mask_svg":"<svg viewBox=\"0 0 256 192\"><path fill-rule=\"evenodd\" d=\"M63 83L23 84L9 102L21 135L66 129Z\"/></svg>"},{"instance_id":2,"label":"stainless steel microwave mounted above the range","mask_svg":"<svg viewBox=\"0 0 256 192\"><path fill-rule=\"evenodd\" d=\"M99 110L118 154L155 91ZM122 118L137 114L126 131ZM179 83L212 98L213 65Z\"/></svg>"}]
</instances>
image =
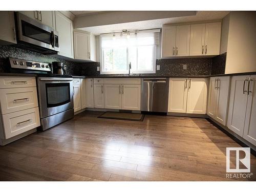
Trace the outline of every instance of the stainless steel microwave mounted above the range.
<instances>
[{"instance_id":1,"label":"stainless steel microwave mounted above the range","mask_svg":"<svg viewBox=\"0 0 256 192\"><path fill-rule=\"evenodd\" d=\"M58 32L19 12L15 12L18 46L44 54L59 52Z\"/></svg>"}]
</instances>

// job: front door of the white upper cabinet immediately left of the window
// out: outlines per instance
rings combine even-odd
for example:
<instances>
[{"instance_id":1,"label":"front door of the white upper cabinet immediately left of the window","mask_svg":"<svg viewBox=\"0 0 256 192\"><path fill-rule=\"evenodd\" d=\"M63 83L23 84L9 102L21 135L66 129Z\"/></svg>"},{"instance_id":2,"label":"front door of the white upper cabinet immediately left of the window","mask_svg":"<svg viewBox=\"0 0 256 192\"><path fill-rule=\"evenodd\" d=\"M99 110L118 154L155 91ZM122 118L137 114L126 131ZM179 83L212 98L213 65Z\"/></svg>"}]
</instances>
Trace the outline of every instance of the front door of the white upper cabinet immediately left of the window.
<instances>
[{"instance_id":1,"label":"front door of the white upper cabinet immediately left of the window","mask_svg":"<svg viewBox=\"0 0 256 192\"><path fill-rule=\"evenodd\" d=\"M90 34L74 31L74 58L89 60Z\"/></svg>"}]
</instances>

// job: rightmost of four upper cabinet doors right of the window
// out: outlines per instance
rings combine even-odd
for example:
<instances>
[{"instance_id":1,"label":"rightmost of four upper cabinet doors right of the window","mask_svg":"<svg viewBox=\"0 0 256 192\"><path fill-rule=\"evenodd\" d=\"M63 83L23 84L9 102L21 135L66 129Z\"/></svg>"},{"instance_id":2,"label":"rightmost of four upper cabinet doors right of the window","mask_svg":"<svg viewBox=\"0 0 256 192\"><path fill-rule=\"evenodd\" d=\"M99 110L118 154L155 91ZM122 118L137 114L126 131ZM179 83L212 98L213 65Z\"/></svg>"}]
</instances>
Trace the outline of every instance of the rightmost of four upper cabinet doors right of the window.
<instances>
[{"instance_id":1,"label":"rightmost of four upper cabinet doors right of the window","mask_svg":"<svg viewBox=\"0 0 256 192\"><path fill-rule=\"evenodd\" d=\"M205 55L219 55L221 43L221 22L205 26Z\"/></svg>"}]
</instances>

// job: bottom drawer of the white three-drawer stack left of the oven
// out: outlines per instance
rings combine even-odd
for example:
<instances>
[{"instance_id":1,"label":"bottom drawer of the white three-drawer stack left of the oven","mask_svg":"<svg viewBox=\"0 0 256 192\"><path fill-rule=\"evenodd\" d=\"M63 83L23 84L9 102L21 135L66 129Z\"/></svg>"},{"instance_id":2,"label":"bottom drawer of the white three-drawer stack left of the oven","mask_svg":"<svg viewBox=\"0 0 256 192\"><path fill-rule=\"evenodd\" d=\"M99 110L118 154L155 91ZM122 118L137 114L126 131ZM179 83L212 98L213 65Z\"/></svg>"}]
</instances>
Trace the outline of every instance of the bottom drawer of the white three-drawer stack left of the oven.
<instances>
[{"instance_id":1,"label":"bottom drawer of the white three-drawer stack left of the oven","mask_svg":"<svg viewBox=\"0 0 256 192\"><path fill-rule=\"evenodd\" d=\"M2 118L5 139L9 139L40 126L38 107L2 115Z\"/></svg>"}]
</instances>

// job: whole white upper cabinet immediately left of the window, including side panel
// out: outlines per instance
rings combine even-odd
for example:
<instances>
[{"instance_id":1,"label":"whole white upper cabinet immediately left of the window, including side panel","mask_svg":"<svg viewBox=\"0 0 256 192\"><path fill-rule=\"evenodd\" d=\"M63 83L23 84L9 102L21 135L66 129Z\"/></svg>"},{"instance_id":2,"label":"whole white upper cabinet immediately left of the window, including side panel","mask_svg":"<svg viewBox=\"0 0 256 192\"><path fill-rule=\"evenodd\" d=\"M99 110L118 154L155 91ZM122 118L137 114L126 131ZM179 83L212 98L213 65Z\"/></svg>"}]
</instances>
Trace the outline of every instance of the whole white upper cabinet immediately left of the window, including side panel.
<instances>
[{"instance_id":1,"label":"whole white upper cabinet immediately left of the window, including side panel","mask_svg":"<svg viewBox=\"0 0 256 192\"><path fill-rule=\"evenodd\" d=\"M96 61L95 35L86 31L74 31L74 58Z\"/></svg>"}]
</instances>

